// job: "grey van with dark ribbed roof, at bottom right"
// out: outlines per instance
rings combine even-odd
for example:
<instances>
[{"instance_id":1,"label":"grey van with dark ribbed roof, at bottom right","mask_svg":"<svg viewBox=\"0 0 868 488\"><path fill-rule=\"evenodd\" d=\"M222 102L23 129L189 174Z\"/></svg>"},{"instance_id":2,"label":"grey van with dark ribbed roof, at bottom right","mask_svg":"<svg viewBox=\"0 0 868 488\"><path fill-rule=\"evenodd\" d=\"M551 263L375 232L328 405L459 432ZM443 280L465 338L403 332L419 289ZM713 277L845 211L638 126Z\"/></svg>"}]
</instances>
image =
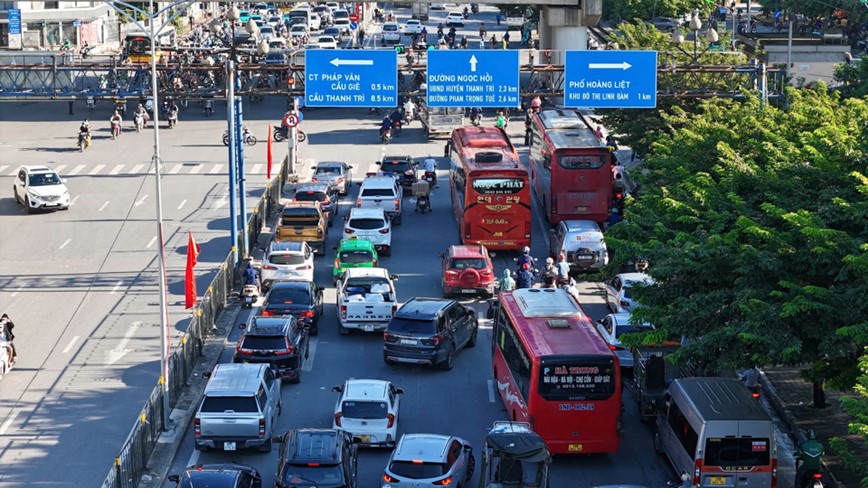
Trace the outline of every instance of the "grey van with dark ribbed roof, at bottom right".
<instances>
[{"instance_id":1,"label":"grey van with dark ribbed roof, at bottom right","mask_svg":"<svg viewBox=\"0 0 868 488\"><path fill-rule=\"evenodd\" d=\"M695 487L777 486L775 426L736 379L674 380L657 413L654 448Z\"/></svg>"}]
</instances>

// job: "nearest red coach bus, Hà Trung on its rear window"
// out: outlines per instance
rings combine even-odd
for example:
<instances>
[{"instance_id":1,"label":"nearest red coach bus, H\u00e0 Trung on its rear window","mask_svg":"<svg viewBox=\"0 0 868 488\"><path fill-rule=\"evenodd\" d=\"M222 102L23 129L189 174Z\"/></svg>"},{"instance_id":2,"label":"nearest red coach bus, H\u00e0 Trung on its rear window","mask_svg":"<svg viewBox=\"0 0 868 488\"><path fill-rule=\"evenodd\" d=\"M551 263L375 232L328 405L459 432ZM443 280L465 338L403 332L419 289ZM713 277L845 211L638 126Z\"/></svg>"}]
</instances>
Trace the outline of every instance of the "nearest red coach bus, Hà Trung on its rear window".
<instances>
[{"instance_id":1,"label":"nearest red coach bus, H\u00e0 Trung on its rear window","mask_svg":"<svg viewBox=\"0 0 868 488\"><path fill-rule=\"evenodd\" d=\"M618 450L618 358L566 291L501 293L492 350L510 419L529 422L552 453Z\"/></svg>"}]
</instances>

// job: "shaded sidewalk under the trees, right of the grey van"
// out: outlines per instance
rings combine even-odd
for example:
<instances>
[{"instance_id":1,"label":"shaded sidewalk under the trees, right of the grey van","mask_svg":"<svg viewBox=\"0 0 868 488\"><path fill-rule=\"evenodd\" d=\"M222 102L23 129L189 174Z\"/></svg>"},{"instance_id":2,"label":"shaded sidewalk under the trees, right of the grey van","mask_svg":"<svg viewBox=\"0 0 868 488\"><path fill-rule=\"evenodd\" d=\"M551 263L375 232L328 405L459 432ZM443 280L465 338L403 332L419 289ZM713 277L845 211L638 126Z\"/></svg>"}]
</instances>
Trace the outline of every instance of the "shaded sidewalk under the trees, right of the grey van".
<instances>
[{"instance_id":1,"label":"shaded sidewalk under the trees, right of the grey van","mask_svg":"<svg viewBox=\"0 0 868 488\"><path fill-rule=\"evenodd\" d=\"M840 458L832 455L832 450L829 448L829 438L841 437L846 439L856 456L868 459L868 444L860 436L847 433L850 416L841 408L839 401L845 394L827 389L827 407L813 408L813 386L799 377L799 370L800 368L772 368L764 370L763 373L780 398L781 406L790 414L782 415L784 421L787 423L794 421L795 426L802 433L814 429L817 439L826 446L824 460L829 471L838 481L838 486L857 488L860 486L860 476L847 469ZM788 483L782 486L788 486Z\"/></svg>"}]
</instances>

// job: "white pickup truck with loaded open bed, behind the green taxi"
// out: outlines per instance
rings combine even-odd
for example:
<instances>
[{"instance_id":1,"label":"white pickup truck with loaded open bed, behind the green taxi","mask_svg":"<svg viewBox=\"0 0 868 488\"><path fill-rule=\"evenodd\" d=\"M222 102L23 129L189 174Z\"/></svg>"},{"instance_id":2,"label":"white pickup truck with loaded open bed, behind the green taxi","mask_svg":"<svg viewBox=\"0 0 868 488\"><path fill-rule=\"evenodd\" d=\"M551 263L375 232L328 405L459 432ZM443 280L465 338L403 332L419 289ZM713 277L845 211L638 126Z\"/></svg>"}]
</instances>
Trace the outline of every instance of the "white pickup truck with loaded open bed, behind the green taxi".
<instances>
[{"instance_id":1,"label":"white pickup truck with loaded open bed, behind the green taxi","mask_svg":"<svg viewBox=\"0 0 868 488\"><path fill-rule=\"evenodd\" d=\"M385 268L349 268L337 283L338 331L382 331L398 310L398 297Z\"/></svg>"}]
</instances>

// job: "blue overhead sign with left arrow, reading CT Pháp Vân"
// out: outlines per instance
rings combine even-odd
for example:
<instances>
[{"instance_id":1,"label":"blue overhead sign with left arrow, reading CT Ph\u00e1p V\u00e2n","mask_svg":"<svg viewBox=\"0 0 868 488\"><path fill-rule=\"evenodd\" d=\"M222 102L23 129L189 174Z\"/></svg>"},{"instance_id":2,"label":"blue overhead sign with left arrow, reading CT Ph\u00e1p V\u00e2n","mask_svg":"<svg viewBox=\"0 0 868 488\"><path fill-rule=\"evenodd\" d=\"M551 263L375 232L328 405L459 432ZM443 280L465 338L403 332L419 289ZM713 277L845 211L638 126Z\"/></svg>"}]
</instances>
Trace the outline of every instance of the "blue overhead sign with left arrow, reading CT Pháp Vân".
<instances>
[{"instance_id":1,"label":"blue overhead sign with left arrow, reading CT Ph\u00e1p V\u00e2n","mask_svg":"<svg viewBox=\"0 0 868 488\"><path fill-rule=\"evenodd\" d=\"M308 107L398 105L398 54L392 49L308 50L304 79Z\"/></svg>"}]
</instances>

